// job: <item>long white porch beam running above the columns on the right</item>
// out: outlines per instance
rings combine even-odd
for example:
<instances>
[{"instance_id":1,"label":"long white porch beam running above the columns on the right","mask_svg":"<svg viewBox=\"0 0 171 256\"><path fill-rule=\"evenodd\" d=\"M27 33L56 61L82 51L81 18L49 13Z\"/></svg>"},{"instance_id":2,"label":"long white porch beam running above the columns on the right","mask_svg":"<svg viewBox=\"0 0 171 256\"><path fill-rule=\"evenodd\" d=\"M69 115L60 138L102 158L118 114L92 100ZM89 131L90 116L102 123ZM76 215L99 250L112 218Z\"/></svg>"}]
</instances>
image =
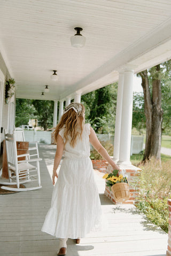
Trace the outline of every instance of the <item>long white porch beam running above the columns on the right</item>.
<instances>
[{"instance_id":1,"label":"long white porch beam running above the columns on the right","mask_svg":"<svg viewBox=\"0 0 171 256\"><path fill-rule=\"evenodd\" d=\"M146 34L141 40L131 44L127 49L124 49L115 55L112 59L98 67L94 72L84 77L84 79L76 82L74 87L71 87L70 90L66 90L61 95L61 98L71 95L77 90L82 90L82 93L84 94L86 87L89 87L90 84L91 90L89 91L98 89L100 86L94 88L94 83L98 82L98 84L105 84L101 82L105 76L107 84L117 81L118 77L113 76L112 80L110 79L110 74L125 64L136 65L135 73L138 73L144 69L169 60L171 57L170 43L171 18L152 30L152 32L150 31L149 34ZM109 79L108 76L110 77Z\"/></svg>"}]
</instances>

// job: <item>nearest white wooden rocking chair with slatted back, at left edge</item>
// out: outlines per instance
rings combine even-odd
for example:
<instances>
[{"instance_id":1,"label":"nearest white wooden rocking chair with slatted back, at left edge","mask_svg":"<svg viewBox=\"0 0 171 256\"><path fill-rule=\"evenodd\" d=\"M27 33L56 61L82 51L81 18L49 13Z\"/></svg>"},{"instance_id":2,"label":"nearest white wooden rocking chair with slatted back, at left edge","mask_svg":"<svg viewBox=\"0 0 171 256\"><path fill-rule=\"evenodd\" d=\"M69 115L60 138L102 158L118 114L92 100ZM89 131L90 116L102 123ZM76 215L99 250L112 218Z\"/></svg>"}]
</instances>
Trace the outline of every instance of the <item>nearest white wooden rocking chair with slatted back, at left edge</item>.
<instances>
[{"instance_id":1,"label":"nearest white wooden rocking chair with slatted back, at left edge","mask_svg":"<svg viewBox=\"0 0 171 256\"><path fill-rule=\"evenodd\" d=\"M40 166L39 161L41 158L29 159L29 154L17 155L17 143L15 139L15 131L13 134L5 133L5 145L6 145L6 156L7 156L7 168L9 173L9 182L1 181L3 185L17 185L17 188L2 186L2 189L11 191L29 191L42 188L40 179ZM26 157L25 160L19 161L18 158ZM30 164L30 162L36 162L36 166ZM20 184L37 181L37 187L20 188Z\"/></svg>"}]
</instances>

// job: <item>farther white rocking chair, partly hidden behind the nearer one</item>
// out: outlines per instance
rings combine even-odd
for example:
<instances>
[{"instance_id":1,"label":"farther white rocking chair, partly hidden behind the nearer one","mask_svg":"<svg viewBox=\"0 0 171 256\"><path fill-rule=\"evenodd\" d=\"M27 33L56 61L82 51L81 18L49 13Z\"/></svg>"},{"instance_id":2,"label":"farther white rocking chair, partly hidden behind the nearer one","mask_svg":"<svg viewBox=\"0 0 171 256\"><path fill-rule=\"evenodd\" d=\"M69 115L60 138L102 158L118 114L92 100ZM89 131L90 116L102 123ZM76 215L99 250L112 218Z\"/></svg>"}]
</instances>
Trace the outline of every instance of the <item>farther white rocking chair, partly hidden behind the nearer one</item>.
<instances>
[{"instance_id":1,"label":"farther white rocking chair, partly hidden behind the nearer one","mask_svg":"<svg viewBox=\"0 0 171 256\"><path fill-rule=\"evenodd\" d=\"M24 129L22 129L20 127L16 127L15 128L15 126L14 126L14 131L15 131L15 139L16 139L16 141L26 141L25 140ZM28 148L28 150L29 150L29 158L30 157L37 157L37 158L39 158L37 141L34 141L32 143L35 143L35 145ZM34 151L32 151L32 150L34 150ZM32 151L33 153L31 154L30 151Z\"/></svg>"}]
</instances>

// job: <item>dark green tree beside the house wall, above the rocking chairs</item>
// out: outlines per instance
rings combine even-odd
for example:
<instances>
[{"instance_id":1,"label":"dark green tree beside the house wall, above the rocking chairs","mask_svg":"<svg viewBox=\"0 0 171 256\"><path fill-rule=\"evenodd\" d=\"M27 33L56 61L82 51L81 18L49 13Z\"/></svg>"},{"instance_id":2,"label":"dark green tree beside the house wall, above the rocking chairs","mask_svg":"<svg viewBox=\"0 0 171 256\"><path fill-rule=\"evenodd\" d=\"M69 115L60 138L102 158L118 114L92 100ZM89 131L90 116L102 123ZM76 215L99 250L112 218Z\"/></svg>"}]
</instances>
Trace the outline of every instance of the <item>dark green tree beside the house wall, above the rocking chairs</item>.
<instances>
[{"instance_id":1,"label":"dark green tree beside the house wall, above the rocking chairs","mask_svg":"<svg viewBox=\"0 0 171 256\"><path fill-rule=\"evenodd\" d=\"M27 125L29 119L35 118L35 107L30 99L17 99L15 111L15 126Z\"/></svg>"}]
</instances>

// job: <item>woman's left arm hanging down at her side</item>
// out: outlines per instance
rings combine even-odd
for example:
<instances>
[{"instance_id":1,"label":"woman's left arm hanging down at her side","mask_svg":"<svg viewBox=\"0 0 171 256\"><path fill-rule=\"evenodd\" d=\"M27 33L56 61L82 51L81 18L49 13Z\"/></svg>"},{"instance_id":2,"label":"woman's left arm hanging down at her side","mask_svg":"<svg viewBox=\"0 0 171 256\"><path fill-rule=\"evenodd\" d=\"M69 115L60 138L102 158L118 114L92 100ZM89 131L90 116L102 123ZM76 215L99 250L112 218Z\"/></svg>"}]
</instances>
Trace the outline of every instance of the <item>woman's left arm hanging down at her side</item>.
<instances>
[{"instance_id":1,"label":"woman's left arm hanging down at her side","mask_svg":"<svg viewBox=\"0 0 171 256\"><path fill-rule=\"evenodd\" d=\"M57 150L56 150L54 164L53 164L53 175L52 175L53 185L55 185L55 176L58 177L57 168L58 168L58 166L60 164L60 160L63 156L63 151L64 151L64 141L63 141L63 138L60 135L58 135Z\"/></svg>"}]
</instances>

